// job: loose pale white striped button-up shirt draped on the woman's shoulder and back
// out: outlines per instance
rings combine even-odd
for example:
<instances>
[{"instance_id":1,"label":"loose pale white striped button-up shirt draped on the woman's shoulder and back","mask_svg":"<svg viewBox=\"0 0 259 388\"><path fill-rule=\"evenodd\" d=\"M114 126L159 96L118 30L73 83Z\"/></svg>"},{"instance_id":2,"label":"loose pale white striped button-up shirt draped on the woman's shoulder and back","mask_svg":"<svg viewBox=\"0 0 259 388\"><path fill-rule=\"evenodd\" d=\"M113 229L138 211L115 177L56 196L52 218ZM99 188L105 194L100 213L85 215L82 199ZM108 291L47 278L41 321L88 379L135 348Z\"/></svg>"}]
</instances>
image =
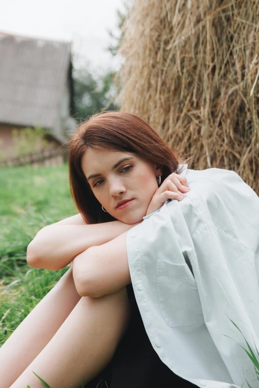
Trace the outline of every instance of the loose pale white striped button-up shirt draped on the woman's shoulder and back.
<instances>
[{"instance_id":1,"label":"loose pale white striped button-up shirt draped on the woman's shoulder and back","mask_svg":"<svg viewBox=\"0 0 259 388\"><path fill-rule=\"evenodd\" d=\"M167 200L127 234L143 324L183 379L258 388L242 346L249 351L244 335L259 361L259 197L234 171L184 166L187 197Z\"/></svg>"}]
</instances>

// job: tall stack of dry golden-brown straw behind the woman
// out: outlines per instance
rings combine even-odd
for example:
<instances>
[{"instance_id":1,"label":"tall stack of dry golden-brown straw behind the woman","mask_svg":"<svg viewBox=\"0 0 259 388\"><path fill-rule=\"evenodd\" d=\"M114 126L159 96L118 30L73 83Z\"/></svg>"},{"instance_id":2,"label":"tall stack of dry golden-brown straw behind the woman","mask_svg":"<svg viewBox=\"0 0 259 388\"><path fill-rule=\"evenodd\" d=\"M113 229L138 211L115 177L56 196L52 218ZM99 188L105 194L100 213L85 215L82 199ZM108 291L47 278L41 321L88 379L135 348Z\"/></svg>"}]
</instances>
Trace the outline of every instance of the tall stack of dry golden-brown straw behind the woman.
<instances>
[{"instance_id":1,"label":"tall stack of dry golden-brown straw behind the woman","mask_svg":"<svg viewBox=\"0 0 259 388\"><path fill-rule=\"evenodd\" d=\"M259 194L259 0L135 0L119 53L121 111Z\"/></svg>"}]
</instances>

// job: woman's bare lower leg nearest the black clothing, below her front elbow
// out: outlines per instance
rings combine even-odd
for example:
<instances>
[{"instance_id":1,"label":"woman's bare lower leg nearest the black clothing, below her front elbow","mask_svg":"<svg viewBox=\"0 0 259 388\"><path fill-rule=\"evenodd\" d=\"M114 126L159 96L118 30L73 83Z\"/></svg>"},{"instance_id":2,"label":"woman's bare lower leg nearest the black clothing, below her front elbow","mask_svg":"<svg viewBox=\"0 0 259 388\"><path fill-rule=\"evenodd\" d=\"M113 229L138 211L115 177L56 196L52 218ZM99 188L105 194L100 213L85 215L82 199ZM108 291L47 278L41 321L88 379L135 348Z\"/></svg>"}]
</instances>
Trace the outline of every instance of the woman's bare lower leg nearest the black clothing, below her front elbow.
<instances>
[{"instance_id":1,"label":"woman's bare lower leg nearest the black clothing, below her front elbow","mask_svg":"<svg viewBox=\"0 0 259 388\"><path fill-rule=\"evenodd\" d=\"M10 388L42 388L33 372L51 388L79 388L82 377L88 383L112 360L129 318L126 287L100 298L82 297Z\"/></svg>"}]
</instances>

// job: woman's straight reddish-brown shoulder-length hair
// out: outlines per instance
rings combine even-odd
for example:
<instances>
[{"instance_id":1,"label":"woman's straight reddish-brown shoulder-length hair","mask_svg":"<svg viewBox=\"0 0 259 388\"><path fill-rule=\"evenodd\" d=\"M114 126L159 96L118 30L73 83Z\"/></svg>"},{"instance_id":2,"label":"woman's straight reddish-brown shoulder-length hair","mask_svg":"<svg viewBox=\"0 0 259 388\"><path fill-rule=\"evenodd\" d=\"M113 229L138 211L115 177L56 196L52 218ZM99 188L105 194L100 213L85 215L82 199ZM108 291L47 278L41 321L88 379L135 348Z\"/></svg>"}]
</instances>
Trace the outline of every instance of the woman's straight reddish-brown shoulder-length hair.
<instances>
[{"instance_id":1,"label":"woman's straight reddish-brown shoulder-length hair","mask_svg":"<svg viewBox=\"0 0 259 388\"><path fill-rule=\"evenodd\" d=\"M173 148L136 114L120 111L103 111L80 123L69 142L68 171L71 197L87 223L116 220L105 213L95 198L81 167L82 156L88 147L111 151L136 153L147 161L163 165L161 183L179 164L182 158ZM180 172L180 171L179 171Z\"/></svg>"}]
</instances>

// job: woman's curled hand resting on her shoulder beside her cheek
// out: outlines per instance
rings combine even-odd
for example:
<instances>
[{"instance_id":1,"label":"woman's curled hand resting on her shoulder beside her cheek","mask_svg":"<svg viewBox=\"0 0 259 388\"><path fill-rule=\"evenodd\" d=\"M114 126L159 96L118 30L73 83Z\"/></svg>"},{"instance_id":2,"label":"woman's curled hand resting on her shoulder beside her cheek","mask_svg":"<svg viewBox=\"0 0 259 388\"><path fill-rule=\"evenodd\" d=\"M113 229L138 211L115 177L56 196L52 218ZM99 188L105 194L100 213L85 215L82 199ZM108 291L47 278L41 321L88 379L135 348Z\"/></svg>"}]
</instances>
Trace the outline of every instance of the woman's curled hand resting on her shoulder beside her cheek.
<instances>
[{"instance_id":1,"label":"woman's curled hand resting on her shoulder beside her cheek","mask_svg":"<svg viewBox=\"0 0 259 388\"><path fill-rule=\"evenodd\" d=\"M175 172L170 174L155 191L155 194L153 195L147 208L146 216L159 209L167 199L177 199L178 201L182 201L186 195L182 194L181 191L188 192L191 190L190 187L187 186L189 185L184 176Z\"/></svg>"}]
</instances>

